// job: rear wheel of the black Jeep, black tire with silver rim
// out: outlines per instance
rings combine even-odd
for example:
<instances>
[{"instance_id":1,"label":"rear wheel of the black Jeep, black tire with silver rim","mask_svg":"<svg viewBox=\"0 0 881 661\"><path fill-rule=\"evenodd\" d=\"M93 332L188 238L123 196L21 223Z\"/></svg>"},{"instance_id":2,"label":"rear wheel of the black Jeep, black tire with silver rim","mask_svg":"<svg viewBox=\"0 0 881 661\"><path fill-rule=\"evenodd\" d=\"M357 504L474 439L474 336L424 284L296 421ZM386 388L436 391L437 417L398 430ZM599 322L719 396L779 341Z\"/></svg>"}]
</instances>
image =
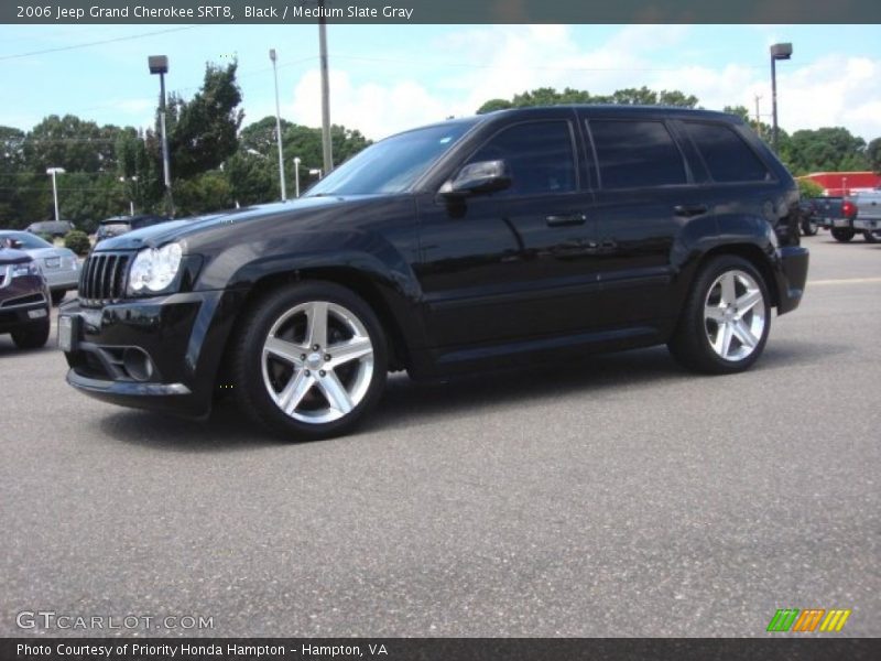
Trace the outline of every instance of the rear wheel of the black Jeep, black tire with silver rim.
<instances>
[{"instance_id":1,"label":"rear wheel of the black Jeep, black tire with silver rim","mask_svg":"<svg viewBox=\"0 0 881 661\"><path fill-rule=\"evenodd\" d=\"M731 283L735 296L733 305L726 307L724 297L717 302L716 296L722 293L722 278L727 274L731 280L726 278L725 282ZM761 300L742 313L742 318L738 317L738 304L746 305L747 294L754 296L757 292ZM708 316L710 310L724 321L713 321ZM724 342L726 325L737 326L737 330L728 332L727 345ZM761 273L749 261L724 254L711 258L698 271L667 347L676 361L688 369L713 375L735 373L749 369L759 359L770 329L771 304ZM752 338L752 347L738 336L746 330L750 332L746 337ZM715 340L718 340L718 349L714 348Z\"/></svg>"}]
</instances>

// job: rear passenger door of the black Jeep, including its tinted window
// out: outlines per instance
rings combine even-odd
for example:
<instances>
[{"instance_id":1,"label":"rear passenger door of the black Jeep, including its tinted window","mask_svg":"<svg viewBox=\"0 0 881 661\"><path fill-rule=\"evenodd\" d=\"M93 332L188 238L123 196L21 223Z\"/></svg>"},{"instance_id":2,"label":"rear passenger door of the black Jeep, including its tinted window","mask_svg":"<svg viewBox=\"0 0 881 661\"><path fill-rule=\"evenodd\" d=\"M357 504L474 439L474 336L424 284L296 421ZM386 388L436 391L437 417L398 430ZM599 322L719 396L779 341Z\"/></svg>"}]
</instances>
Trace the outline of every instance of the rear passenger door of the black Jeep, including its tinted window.
<instances>
[{"instance_id":1,"label":"rear passenger door of the black Jeep, including its tinted window","mask_svg":"<svg viewBox=\"0 0 881 661\"><path fill-rule=\"evenodd\" d=\"M674 308L672 262L684 225L707 213L663 118L591 115L599 173L596 205L599 305L608 327L654 332Z\"/></svg>"}]
</instances>

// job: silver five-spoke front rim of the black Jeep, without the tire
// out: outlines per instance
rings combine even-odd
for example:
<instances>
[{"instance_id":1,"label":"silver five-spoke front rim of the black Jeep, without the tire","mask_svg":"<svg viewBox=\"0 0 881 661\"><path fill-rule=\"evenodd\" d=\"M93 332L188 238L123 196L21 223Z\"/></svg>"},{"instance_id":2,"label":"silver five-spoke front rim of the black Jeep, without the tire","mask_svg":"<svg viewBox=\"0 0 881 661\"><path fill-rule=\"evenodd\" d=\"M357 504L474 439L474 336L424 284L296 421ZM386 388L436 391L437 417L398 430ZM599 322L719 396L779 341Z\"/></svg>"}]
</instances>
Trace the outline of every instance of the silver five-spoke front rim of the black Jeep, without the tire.
<instances>
[{"instance_id":1,"label":"silver five-spoke front rim of the black Jeep, without the tire","mask_svg":"<svg viewBox=\"0 0 881 661\"><path fill-rule=\"evenodd\" d=\"M350 413L373 376L373 344L342 305L311 301L270 328L262 351L263 384L286 415L320 424Z\"/></svg>"}]
</instances>

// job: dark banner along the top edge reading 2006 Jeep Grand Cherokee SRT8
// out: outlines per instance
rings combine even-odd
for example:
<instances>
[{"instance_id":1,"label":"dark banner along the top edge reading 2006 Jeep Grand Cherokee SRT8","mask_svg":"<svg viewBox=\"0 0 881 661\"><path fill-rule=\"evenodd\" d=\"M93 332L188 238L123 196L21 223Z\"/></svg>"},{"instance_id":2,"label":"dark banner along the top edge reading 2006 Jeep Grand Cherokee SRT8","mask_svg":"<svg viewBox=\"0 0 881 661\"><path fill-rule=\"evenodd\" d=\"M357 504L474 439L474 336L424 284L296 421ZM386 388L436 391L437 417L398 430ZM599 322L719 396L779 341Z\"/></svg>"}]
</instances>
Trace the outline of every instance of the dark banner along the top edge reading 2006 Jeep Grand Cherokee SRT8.
<instances>
[{"instance_id":1,"label":"dark banner along the top edge reading 2006 Jeep Grand Cherokee SRT8","mask_svg":"<svg viewBox=\"0 0 881 661\"><path fill-rule=\"evenodd\" d=\"M880 23L878 0L4 0L0 23Z\"/></svg>"}]
</instances>

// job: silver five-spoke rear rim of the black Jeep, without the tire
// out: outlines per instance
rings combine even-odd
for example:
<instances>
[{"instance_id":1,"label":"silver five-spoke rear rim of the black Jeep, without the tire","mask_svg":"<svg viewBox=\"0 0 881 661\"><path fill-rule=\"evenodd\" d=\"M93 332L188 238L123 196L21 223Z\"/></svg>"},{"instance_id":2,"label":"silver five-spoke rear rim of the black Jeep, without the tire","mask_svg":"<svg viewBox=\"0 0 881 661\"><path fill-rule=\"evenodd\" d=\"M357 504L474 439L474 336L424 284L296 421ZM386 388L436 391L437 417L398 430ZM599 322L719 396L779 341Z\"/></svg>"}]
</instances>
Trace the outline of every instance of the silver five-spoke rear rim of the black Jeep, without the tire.
<instances>
[{"instance_id":1,"label":"silver five-spoke rear rim of the black Jeep, without the tire","mask_svg":"<svg viewBox=\"0 0 881 661\"><path fill-rule=\"evenodd\" d=\"M704 326L717 356L737 362L759 345L765 327L762 290L753 278L737 269L719 275L707 292Z\"/></svg>"}]
</instances>

